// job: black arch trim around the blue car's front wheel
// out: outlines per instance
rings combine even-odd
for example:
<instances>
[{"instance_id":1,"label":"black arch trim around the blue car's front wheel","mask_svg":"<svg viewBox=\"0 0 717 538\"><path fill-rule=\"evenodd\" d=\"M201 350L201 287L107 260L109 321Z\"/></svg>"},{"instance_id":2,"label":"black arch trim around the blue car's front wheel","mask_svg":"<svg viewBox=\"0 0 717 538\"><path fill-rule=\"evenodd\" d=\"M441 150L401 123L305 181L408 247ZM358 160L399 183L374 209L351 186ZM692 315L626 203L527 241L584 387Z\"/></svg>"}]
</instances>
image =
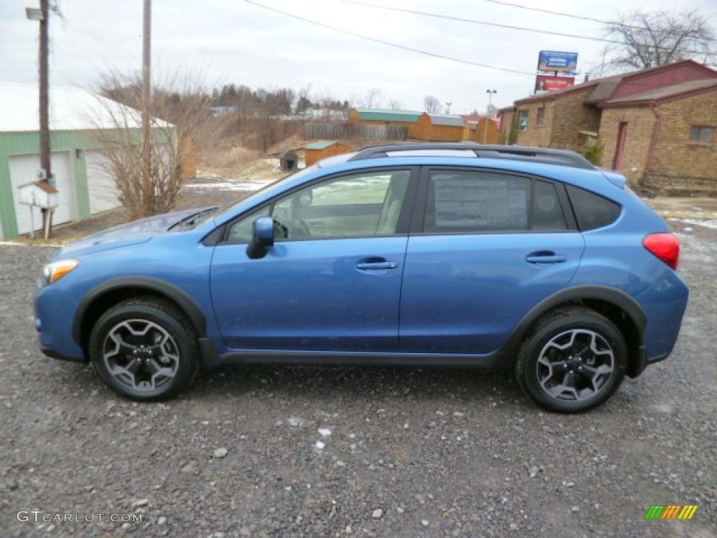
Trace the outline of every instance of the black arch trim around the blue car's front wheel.
<instances>
[{"instance_id":1,"label":"black arch trim around the blue car's front wheel","mask_svg":"<svg viewBox=\"0 0 717 538\"><path fill-rule=\"evenodd\" d=\"M146 290L153 295L165 296L170 301L174 301L179 308L184 311L187 318L189 318L189 323L194 327L196 336L200 339L206 337L206 316L189 293L186 293L186 291L178 285L169 283L166 280L145 276L128 276L100 284L92 288L92 290L82 298L82 301L80 301L80 304L77 306L75 321L72 324L72 338L75 339L75 342L77 342L79 346L83 346L82 326L87 309L102 296L126 289Z\"/></svg>"}]
</instances>

